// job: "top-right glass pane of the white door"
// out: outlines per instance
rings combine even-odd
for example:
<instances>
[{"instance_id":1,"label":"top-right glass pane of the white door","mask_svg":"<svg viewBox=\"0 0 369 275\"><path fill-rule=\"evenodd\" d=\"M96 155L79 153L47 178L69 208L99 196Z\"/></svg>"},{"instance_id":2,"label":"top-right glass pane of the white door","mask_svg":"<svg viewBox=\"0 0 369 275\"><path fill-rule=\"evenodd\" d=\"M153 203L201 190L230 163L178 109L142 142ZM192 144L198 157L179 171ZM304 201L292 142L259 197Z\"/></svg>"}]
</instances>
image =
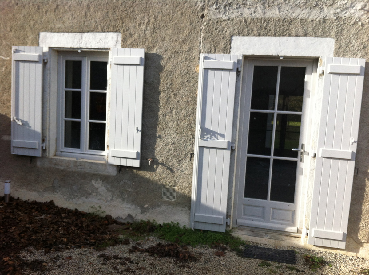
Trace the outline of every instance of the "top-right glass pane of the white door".
<instances>
[{"instance_id":1,"label":"top-right glass pane of the white door","mask_svg":"<svg viewBox=\"0 0 369 275\"><path fill-rule=\"evenodd\" d=\"M302 111L305 70L305 67L280 68L278 110Z\"/></svg>"}]
</instances>

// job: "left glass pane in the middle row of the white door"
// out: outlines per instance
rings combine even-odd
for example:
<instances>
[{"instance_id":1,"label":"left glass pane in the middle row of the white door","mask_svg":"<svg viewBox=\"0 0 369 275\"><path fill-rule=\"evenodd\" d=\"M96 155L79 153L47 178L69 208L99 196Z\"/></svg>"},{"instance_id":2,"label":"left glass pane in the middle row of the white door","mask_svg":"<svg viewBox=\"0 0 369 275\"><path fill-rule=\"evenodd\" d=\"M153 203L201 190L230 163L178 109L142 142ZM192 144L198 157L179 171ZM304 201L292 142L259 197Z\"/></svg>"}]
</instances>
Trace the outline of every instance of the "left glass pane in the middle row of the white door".
<instances>
[{"instance_id":1,"label":"left glass pane in the middle row of the white door","mask_svg":"<svg viewBox=\"0 0 369 275\"><path fill-rule=\"evenodd\" d=\"M270 155L272 132L273 114L251 112L247 153L254 155Z\"/></svg>"}]
</instances>

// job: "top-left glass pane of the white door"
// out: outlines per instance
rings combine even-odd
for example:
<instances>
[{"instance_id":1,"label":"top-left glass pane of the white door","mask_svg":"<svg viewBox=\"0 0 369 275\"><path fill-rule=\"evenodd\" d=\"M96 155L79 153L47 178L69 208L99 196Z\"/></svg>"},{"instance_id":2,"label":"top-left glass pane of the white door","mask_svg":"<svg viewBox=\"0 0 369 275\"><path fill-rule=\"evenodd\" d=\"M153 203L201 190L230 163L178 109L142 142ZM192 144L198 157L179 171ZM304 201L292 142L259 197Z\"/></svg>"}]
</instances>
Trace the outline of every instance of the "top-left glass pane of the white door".
<instances>
[{"instance_id":1,"label":"top-left glass pane of the white door","mask_svg":"<svg viewBox=\"0 0 369 275\"><path fill-rule=\"evenodd\" d=\"M277 66L254 66L251 109L274 110L277 74Z\"/></svg>"}]
</instances>

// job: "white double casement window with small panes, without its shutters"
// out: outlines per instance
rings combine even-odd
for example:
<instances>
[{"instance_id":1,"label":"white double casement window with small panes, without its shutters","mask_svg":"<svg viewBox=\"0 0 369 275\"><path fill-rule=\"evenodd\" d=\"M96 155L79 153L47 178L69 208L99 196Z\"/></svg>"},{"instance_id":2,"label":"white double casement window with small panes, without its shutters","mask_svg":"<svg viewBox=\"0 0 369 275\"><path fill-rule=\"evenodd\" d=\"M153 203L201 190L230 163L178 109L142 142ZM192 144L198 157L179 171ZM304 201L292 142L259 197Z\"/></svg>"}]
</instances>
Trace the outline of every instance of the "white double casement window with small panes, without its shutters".
<instances>
[{"instance_id":1,"label":"white double casement window with small panes, without its shutters","mask_svg":"<svg viewBox=\"0 0 369 275\"><path fill-rule=\"evenodd\" d=\"M108 53L59 52L57 155L105 159L107 66Z\"/></svg>"}]
</instances>

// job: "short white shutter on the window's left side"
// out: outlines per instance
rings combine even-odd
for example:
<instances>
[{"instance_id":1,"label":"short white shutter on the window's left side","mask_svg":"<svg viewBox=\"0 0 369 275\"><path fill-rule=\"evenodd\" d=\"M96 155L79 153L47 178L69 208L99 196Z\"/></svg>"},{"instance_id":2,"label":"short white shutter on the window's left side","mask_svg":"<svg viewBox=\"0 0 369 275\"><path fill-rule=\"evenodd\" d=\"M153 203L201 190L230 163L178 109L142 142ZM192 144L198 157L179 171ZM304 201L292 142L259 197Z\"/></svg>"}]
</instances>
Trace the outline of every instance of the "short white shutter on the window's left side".
<instances>
[{"instance_id":1,"label":"short white shutter on the window's left side","mask_svg":"<svg viewBox=\"0 0 369 275\"><path fill-rule=\"evenodd\" d=\"M41 156L42 47L13 46L11 154Z\"/></svg>"}]
</instances>

